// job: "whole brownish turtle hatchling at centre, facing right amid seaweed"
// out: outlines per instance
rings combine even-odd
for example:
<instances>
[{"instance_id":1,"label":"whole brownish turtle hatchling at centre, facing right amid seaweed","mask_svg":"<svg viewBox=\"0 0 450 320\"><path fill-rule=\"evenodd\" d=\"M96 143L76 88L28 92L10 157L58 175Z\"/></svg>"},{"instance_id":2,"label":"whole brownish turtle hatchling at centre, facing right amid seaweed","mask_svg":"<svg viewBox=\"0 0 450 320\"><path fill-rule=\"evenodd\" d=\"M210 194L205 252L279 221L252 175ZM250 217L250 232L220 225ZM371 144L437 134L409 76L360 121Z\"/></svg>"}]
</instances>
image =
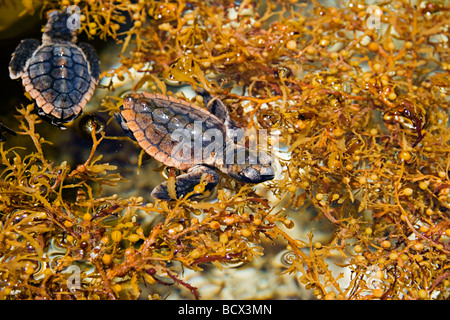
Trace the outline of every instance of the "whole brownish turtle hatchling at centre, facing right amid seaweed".
<instances>
[{"instance_id":1,"label":"whole brownish turtle hatchling at centre, facing right amid seaweed","mask_svg":"<svg viewBox=\"0 0 450 320\"><path fill-rule=\"evenodd\" d=\"M245 183L273 179L271 157L236 143L237 127L225 105L204 91L201 95L208 110L162 94L128 94L116 119L149 155L167 166L187 170L175 178L177 198L195 190L202 179L205 190L211 191L219 182L215 168ZM174 200L167 181L151 194L156 199Z\"/></svg>"}]
</instances>

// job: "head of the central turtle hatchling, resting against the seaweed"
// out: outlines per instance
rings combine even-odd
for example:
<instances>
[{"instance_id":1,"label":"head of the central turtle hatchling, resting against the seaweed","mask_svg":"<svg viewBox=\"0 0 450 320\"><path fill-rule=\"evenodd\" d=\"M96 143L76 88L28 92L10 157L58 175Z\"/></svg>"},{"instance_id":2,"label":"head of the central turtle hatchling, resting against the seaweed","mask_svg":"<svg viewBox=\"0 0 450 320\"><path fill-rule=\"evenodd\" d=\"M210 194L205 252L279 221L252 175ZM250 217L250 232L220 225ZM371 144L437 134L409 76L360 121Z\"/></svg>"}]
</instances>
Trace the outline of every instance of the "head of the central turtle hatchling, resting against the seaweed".
<instances>
[{"instance_id":1,"label":"head of the central turtle hatchling, resting against the seaweed","mask_svg":"<svg viewBox=\"0 0 450 320\"><path fill-rule=\"evenodd\" d=\"M267 153L244 147L235 148L235 151L234 163L226 166L229 176L245 183L261 183L274 178L272 158Z\"/></svg>"}]
</instances>

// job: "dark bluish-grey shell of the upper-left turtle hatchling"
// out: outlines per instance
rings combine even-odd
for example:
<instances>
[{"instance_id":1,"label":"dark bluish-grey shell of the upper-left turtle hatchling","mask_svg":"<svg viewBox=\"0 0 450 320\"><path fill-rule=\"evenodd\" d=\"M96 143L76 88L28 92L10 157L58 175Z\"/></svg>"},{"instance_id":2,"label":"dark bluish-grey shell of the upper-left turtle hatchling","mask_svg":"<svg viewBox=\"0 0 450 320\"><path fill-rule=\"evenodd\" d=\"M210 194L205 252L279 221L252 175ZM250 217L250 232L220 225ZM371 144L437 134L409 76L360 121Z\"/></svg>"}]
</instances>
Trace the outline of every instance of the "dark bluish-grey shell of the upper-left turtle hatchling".
<instances>
[{"instance_id":1,"label":"dark bluish-grey shell of the upper-left turtle hatchling","mask_svg":"<svg viewBox=\"0 0 450 320\"><path fill-rule=\"evenodd\" d=\"M81 114L95 89L86 56L71 42L44 44L22 76L40 116L62 123Z\"/></svg>"}]
</instances>

